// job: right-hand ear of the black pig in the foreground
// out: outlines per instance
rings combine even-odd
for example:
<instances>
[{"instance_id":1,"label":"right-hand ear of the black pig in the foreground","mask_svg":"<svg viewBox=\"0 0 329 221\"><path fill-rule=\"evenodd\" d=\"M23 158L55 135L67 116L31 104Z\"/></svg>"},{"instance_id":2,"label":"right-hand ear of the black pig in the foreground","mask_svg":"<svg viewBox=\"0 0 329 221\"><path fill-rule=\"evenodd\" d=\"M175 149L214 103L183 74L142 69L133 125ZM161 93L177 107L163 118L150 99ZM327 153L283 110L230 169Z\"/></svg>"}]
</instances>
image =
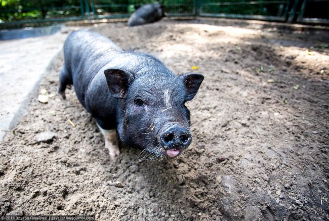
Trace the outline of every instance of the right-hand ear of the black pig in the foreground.
<instances>
[{"instance_id":1,"label":"right-hand ear of the black pig in the foreground","mask_svg":"<svg viewBox=\"0 0 329 221\"><path fill-rule=\"evenodd\" d=\"M186 73L180 76L186 87L186 101L194 98L203 80L202 74Z\"/></svg>"}]
</instances>

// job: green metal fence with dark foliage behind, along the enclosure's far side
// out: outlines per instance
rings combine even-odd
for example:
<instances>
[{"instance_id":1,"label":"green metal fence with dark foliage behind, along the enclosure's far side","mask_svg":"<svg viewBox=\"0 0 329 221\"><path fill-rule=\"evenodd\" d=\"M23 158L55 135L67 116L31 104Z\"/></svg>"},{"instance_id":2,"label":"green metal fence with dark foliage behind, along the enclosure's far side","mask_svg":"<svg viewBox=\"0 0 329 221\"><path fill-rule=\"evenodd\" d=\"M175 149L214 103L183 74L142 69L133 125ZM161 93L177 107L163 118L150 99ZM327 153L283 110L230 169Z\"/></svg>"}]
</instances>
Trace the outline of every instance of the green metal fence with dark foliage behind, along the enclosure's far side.
<instances>
[{"instance_id":1,"label":"green metal fence with dark foliage behind, along the enclosure's far side","mask_svg":"<svg viewBox=\"0 0 329 221\"><path fill-rule=\"evenodd\" d=\"M0 0L0 28L37 22L128 18L139 7L156 2L165 6L167 16L329 24L329 0Z\"/></svg>"}]
</instances>

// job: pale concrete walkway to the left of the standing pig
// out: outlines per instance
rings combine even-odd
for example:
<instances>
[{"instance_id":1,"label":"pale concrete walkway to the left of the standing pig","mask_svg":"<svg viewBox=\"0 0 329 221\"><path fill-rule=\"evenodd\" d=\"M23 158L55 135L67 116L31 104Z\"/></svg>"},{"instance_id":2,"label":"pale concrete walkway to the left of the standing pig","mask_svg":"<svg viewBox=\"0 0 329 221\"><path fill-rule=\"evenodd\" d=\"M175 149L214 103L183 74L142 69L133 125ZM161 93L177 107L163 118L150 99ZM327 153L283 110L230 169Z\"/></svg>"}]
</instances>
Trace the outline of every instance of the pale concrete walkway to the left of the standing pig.
<instances>
[{"instance_id":1,"label":"pale concrete walkway to the left of the standing pig","mask_svg":"<svg viewBox=\"0 0 329 221\"><path fill-rule=\"evenodd\" d=\"M68 31L63 28L53 35L0 41L0 141L24 115Z\"/></svg>"}]
</instances>

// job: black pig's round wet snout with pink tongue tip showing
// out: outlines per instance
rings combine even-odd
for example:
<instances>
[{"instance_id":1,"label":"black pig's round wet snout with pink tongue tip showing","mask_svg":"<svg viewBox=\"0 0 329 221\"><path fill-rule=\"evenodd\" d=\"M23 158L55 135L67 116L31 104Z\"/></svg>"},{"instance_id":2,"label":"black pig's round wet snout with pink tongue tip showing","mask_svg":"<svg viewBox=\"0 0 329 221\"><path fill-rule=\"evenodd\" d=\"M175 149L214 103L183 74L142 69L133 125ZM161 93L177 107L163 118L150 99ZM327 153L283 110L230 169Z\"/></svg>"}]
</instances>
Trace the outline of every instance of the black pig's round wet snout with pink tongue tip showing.
<instances>
[{"instance_id":1,"label":"black pig's round wet snout with pink tongue tip showing","mask_svg":"<svg viewBox=\"0 0 329 221\"><path fill-rule=\"evenodd\" d=\"M181 125L171 124L162 127L158 141L168 156L176 157L191 144L192 135Z\"/></svg>"}]
</instances>

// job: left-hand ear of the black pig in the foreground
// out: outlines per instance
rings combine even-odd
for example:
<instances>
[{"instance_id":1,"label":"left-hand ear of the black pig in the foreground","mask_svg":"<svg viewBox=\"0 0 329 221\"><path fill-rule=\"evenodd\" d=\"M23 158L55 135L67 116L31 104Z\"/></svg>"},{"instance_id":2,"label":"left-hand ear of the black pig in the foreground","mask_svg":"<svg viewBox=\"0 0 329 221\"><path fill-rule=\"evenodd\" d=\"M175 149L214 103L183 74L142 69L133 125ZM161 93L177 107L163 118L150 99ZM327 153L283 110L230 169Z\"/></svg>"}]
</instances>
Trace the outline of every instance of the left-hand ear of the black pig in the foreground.
<instances>
[{"instance_id":1,"label":"left-hand ear of the black pig in the foreground","mask_svg":"<svg viewBox=\"0 0 329 221\"><path fill-rule=\"evenodd\" d=\"M125 99L129 84L134 78L133 74L121 69L106 69L104 74L108 89L113 97Z\"/></svg>"}]
</instances>

